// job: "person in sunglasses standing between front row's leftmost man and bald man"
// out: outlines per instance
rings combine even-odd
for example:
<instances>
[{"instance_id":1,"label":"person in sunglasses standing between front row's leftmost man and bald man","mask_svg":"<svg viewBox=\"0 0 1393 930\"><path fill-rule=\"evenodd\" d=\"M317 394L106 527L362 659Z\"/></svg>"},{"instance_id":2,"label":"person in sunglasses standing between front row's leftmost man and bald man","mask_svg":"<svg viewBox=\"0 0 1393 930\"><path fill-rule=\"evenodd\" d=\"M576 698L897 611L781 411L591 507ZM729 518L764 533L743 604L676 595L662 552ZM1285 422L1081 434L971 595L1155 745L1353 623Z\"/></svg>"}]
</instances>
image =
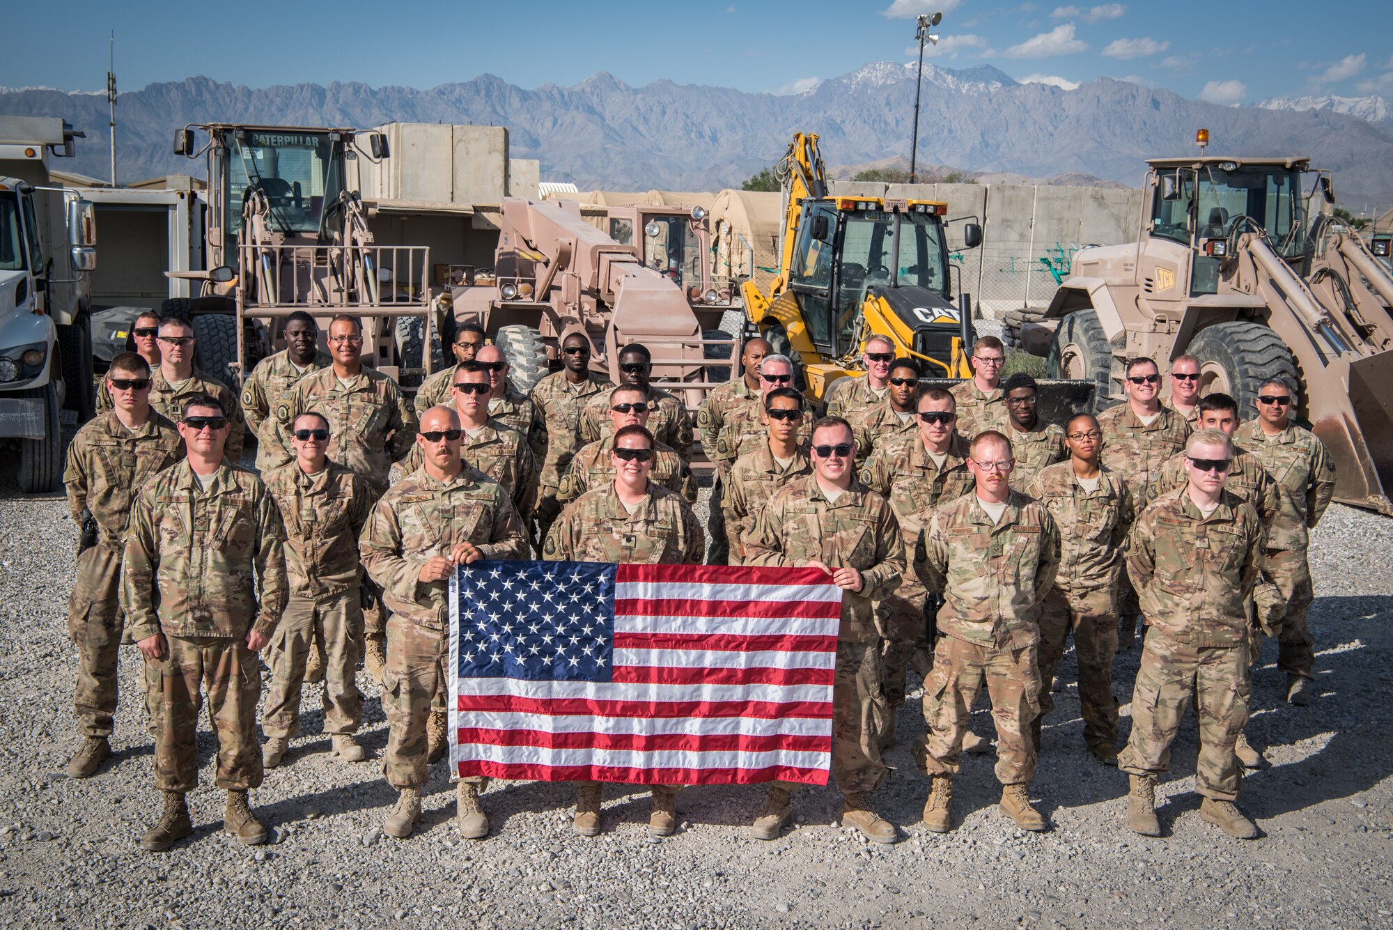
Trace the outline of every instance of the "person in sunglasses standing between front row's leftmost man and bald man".
<instances>
[{"instance_id":1,"label":"person in sunglasses standing between front row's leftmost man and bald man","mask_svg":"<svg viewBox=\"0 0 1393 930\"><path fill-rule=\"evenodd\" d=\"M274 769L299 732L299 686L311 649L325 656L325 732L344 762L366 753L354 734L362 724L362 693L354 681L362 635L358 536L376 494L362 476L326 458L329 420L301 413L291 433L295 461L266 475L266 489L286 525L290 599L272 636L266 664L270 695L262 732L262 764Z\"/></svg>"}]
</instances>

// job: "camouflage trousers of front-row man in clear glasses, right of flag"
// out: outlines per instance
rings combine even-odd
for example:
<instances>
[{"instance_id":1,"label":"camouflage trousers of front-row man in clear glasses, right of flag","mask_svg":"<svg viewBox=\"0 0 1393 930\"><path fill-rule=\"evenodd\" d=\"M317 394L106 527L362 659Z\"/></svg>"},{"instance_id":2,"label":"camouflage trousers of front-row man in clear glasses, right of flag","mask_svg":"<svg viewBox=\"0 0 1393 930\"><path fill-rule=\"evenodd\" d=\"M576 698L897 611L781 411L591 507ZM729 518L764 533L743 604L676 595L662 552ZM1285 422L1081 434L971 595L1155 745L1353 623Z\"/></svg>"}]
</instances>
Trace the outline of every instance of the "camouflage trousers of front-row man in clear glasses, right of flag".
<instances>
[{"instance_id":1,"label":"camouflage trousers of front-row man in clear glasses, right of flag","mask_svg":"<svg viewBox=\"0 0 1393 930\"><path fill-rule=\"evenodd\" d=\"M986 679L996 724L996 778L1022 785L1035 774L1035 743L1029 730L1039 714L1039 670L1035 646L981 646L939 636L933 671L924 681L928 736L915 746L925 775L956 775L963 770L963 736L972 702Z\"/></svg>"}]
</instances>

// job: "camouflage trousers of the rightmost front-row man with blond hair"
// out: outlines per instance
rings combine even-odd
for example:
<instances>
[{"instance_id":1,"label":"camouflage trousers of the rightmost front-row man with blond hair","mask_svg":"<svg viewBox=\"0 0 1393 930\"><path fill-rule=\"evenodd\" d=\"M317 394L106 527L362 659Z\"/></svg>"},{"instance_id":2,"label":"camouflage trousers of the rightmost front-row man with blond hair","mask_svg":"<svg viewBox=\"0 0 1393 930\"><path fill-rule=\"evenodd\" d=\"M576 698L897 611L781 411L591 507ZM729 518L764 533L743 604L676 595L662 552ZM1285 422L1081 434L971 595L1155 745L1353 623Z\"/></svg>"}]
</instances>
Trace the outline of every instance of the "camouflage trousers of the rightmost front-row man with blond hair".
<instances>
[{"instance_id":1,"label":"camouflage trousers of the rightmost front-row man with blond hair","mask_svg":"<svg viewBox=\"0 0 1393 930\"><path fill-rule=\"evenodd\" d=\"M1234 801L1243 770L1234 743L1248 723L1252 679L1248 643L1194 646L1159 629L1146 633L1133 692L1133 731L1117 767L1133 775L1170 769L1170 742L1194 700L1199 711L1195 791L1215 801Z\"/></svg>"}]
</instances>

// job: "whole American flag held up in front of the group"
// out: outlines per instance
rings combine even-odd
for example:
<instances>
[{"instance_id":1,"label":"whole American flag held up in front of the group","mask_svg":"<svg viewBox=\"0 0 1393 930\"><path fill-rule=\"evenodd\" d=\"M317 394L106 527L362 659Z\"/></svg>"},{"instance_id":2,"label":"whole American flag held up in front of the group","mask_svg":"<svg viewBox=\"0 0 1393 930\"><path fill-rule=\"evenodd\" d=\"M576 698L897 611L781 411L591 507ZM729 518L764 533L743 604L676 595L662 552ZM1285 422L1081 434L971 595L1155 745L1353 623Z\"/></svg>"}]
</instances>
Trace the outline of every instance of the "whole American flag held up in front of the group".
<instances>
[{"instance_id":1,"label":"whole American flag held up in front of the group","mask_svg":"<svg viewBox=\"0 0 1393 930\"><path fill-rule=\"evenodd\" d=\"M450 762L525 781L826 784L815 568L481 561L450 582Z\"/></svg>"}]
</instances>

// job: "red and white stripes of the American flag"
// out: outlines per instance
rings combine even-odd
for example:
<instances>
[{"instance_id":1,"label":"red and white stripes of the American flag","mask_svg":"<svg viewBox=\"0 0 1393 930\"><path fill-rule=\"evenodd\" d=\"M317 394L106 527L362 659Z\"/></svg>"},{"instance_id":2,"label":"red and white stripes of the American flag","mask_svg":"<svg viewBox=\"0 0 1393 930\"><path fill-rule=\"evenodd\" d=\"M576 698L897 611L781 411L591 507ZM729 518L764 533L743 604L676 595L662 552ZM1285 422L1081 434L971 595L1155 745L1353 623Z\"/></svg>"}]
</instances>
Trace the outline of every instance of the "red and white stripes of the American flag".
<instances>
[{"instance_id":1,"label":"red and white stripes of the American flag","mask_svg":"<svg viewBox=\"0 0 1393 930\"><path fill-rule=\"evenodd\" d=\"M841 589L825 572L612 571L609 681L451 675L450 760L460 777L826 784ZM564 574L557 590L566 592ZM456 608L456 670L458 626Z\"/></svg>"}]
</instances>

